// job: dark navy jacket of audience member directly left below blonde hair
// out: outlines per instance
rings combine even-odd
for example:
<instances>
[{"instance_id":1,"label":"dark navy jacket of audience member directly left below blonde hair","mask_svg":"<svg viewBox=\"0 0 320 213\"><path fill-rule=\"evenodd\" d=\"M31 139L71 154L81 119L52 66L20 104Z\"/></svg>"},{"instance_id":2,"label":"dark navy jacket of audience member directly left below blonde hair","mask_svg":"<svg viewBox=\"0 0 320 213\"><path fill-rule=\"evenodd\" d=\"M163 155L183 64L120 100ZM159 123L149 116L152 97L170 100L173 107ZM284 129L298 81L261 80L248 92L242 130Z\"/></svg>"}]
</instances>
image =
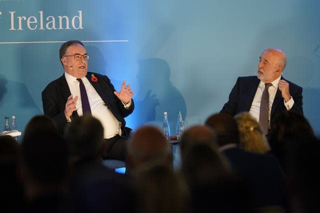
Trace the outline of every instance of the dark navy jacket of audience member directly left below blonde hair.
<instances>
[{"instance_id":1,"label":"dark navy jacket of audience member directly left below blonde hair","mask_svg":"<svg viewBox=\"0 0 320 213\"><path fill-rule=\"evenodd\" d=\"M222 151L233 171L249 186L255 207L284 205L284 172L275 157L238 147Z\"/></svg>"}]
</instances>

